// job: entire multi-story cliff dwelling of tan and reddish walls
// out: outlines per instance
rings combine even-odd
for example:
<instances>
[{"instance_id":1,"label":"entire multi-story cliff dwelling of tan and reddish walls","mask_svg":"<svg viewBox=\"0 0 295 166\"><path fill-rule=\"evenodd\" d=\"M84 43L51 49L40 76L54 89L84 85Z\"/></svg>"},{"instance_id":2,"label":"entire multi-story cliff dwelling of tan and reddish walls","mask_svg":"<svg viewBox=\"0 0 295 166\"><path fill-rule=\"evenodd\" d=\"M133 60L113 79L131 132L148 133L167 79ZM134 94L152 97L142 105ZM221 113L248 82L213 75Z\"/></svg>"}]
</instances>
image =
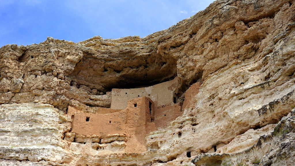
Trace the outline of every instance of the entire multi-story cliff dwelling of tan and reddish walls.
<instances>
[{"instance_id":1,"label":"entire multi-story cliff dwelling of tan and reddish walls","mask_svg":"<svg viewBox=\"0 0 295 166\"><path fill-rule=\"evenodd\" d=\"M99 107L95 113L69 106L72 129L65 140L89 143L95 150L145 152L145 136L182 114L174 94L176 85L175 78L149 87L112 89L111 108Z\"/></svg>"}]
</instances>

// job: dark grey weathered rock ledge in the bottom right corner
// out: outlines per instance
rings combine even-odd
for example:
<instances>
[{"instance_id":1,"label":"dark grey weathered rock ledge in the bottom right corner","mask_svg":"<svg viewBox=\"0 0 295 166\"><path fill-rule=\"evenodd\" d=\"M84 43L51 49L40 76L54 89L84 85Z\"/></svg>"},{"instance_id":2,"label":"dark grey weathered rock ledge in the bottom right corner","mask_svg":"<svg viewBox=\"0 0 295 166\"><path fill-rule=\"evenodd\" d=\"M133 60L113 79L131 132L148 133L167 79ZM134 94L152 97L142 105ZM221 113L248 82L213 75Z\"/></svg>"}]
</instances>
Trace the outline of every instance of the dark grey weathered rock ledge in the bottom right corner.
<instances>
[{"instance_id":1,"label":"dark grey weathered rock ledge in the bottom right corner","mask_svg":"<svg viewBox=\"0 0 295 166\"><path fill-rule=\"evenodd\" d=\"M295 132L295 109L289 115L282 118L278 124L273 125L274 130L265 132L255 144L247 149L239 149L240 152L214 153L197 155L192 162L197 166L209 164L230 165L294 165L294 132ZM268 128L268 127L267 127ZM261 128L262 129L262 128ZM251 130L251 129L250 129ZM258 129L259 130L259 129ZM265 129L263 129L265 130ZM248 135L246 132L242 135ZM258 131L259 132L259 131ZM244 136L237 136L232 143ZM249 135L248 135L249 136ZM256 137L256 136L255 136ZM230 144L231 144L230 143ZM242 142L241 142L242 143ZM230 145L228 144L228 145ZM237 145L239 146L239 145Z\"/></svg>"}]
</instances>

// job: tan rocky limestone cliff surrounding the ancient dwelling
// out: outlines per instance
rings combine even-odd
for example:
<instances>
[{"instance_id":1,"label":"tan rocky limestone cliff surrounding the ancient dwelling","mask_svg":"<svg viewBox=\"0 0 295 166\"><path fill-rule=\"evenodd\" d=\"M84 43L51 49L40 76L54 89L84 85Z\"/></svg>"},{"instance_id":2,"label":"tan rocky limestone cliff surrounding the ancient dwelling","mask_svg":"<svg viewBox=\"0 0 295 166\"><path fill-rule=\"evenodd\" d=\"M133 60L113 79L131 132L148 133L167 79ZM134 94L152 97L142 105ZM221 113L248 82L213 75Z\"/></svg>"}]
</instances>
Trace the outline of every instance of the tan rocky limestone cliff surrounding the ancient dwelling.
<instances>
[{"instance_id":1,"label":"tan rocky limestone cliff surrounding the ancient dwelling","mask_svg":"<svg viewBox=\"0 0 295 166\"><path fill-rule=\"evenodd\" d=\"M167 30L0 48L1 165L295 165L295 1L217 0ZM68 106L177 77L182 112L144 153L72 143ZM293 110L292 110L293 109ZM7 154L52 153L49 156Z\"/></svg>"}]
</instances>

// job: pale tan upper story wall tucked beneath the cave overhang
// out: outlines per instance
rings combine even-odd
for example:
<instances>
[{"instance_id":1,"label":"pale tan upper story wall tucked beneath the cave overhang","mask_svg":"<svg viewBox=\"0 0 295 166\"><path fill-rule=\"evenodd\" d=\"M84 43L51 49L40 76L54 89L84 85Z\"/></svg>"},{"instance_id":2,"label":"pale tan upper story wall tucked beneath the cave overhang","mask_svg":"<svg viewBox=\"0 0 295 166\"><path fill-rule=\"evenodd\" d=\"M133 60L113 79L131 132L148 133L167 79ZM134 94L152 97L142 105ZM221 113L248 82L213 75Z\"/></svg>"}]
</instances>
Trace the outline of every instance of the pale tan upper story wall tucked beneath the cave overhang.
<instances>
[{"instance_id":1,"label":"pale tan upper story wall tucked beneath the cave overhang","mask_svg":"<svg viewBox=\"0 0 295 166\"><path fill-rule=\"evenodd\" d=\"M157 105L172 103L174 99L174 89L177 86L177 78L156 84L150 87L133 89L112 89L112 109L127 108L127 101L138 97L149 97Z\"/></svg>"}]
</instances>

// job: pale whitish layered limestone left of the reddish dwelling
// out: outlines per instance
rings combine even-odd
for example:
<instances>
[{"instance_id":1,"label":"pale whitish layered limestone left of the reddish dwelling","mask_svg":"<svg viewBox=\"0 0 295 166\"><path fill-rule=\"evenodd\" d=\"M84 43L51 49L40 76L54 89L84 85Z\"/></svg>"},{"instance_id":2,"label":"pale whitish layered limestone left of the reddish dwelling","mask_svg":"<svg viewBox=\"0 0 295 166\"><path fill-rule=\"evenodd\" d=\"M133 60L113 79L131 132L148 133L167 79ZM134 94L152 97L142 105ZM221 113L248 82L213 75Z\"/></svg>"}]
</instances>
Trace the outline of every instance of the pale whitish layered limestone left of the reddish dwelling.
<instances>
[{"instance_id":1,"label":"pale whitish layered limestone left of the reddish dwelling","mask_svg":"<svg viewBox=\"0 0 295 166\"><path fill-rule=\"evenodd\" d=\"M63 162L71 157L71 154L64 151L67 143L63 141L64 132L71 128L65 117L52 105L2 104L0 112L1 159ZM28 153L36 155L16 156ZM50 153L55 156L47 155Z\"/></svg>"}]
</instances>

